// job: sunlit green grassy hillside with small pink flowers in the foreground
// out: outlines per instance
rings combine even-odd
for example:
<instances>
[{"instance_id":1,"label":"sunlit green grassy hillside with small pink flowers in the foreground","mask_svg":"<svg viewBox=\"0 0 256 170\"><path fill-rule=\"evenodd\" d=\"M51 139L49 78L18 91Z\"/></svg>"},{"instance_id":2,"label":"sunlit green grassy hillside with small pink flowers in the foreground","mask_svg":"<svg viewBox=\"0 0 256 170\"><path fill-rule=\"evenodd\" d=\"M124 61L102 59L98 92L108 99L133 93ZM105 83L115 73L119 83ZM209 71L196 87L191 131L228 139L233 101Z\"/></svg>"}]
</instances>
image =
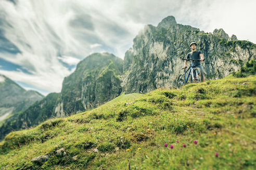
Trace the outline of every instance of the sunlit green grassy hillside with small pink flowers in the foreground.
<instances>
[{"instance_id":1,"label":"sunlit green grassy hillside with small pink flowers in the foreground","mask_svg":"<svg viewBox=\"0 0 256 170\"><path fill-rule=\"evenodd\" d=\"M10 133L0 144L0 169L31 166L32 158L61 147L65 157L33 167L127 169L130 162L131 169L254 169L255 93L255 76L229 76L180 90L121 95L96 109ZM79 160L72 162L74 155Z\"/></svg>"}]
</instances>

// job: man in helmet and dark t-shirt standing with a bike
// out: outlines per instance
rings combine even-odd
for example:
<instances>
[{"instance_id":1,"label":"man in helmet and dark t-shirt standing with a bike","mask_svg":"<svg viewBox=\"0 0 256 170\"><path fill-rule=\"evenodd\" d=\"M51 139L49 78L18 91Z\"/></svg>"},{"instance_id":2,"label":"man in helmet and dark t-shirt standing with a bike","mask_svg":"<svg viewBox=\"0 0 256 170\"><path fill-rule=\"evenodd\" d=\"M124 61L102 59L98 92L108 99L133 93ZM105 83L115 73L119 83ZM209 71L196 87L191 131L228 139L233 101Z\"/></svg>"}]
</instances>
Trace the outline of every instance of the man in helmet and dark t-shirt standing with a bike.
<instances>
[{"instance_id":1,"label":"man in helmet and dark t-shirt standing with a bike","mask_svg":"<svg viewBox=\"0 0 256 170\"><path fill-rule=\"evenodd\" d=\"M200 59L200 62L202 62L202 61L203 61L203 54L202 54L201 51L196 51L196 46L197 46L197 44L196 44L195 42L190 43L190 46L189 46L189 47L191 48L191 52L189 52L189 53L187 54L187 59L196 59L196 60L199 60L199 59ZM200 62L199 62L199 61L194 61L194 62L192 63L192 67L198 67L198 68L200 68L201 71L202 71L202 73L203 73L203 69L202 69L202 67L201 67ZM185 69L186 66L187 66L187 60L185 60L185 64L184 64L184 67L183 67L183 68ZM199 76L200 76L200 74L199 74ZM205 81L203 75L202 75L202 77L203 77L203 81ZM196 77L195 77L195 73L194 73L194 78L196 78Z\"/></svg>"}]
</instances>

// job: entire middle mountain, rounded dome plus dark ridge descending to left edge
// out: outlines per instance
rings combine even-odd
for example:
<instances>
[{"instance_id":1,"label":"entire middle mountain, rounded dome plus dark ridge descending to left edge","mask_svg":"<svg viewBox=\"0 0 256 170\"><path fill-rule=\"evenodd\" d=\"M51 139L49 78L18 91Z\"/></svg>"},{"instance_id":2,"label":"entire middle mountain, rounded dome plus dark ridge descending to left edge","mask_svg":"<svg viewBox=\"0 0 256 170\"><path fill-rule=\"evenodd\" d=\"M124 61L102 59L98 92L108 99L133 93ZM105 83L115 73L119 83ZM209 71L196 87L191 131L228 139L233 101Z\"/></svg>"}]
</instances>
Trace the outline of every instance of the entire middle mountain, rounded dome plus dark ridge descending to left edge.
<instances>
[{"instance_id":1,"label":"entire middle mountain, rounded dome plus dark ridge descending to left edge","mask_svg":"<svg viewBox=\"0 0 256 170\"><path fill-rule=\"evenodd\" d=\"M110 53L94 53L81 61L66 77L60 93L50 93L43 100L0 124L0 139L11 131L27 129L49 118L66 117L97 107L122 92L123 60Z\"/></svg>"}]
</instances>

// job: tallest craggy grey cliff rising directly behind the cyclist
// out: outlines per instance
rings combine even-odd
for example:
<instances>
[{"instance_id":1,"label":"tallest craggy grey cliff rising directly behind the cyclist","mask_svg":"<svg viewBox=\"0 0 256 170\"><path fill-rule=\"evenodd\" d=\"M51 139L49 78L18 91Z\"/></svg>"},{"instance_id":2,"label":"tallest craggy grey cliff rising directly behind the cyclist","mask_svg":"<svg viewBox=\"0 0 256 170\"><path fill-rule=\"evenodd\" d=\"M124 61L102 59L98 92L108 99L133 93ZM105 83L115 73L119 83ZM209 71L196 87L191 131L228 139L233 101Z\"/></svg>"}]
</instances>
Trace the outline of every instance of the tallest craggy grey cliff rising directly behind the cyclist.
<instances>
[{"instance_id":1,"label":"tallest craggy grey cliff rising directly behind the cyclist","mask_svg":"<svg viewBox=\"0 0 256 170\"><path fill-rule=\"evenodd\" d=\"M123 91L146 93L175 86L176 77L183 74L182 58L191 51L193 41L206 59L201 66L207 79L223 78L256 57L255 44L237 40L235 35L229 38L223 29L204 33L167 17L157 27L146 25L134 38L133 48L126 51Z\"/></svg>"}]
</instances>

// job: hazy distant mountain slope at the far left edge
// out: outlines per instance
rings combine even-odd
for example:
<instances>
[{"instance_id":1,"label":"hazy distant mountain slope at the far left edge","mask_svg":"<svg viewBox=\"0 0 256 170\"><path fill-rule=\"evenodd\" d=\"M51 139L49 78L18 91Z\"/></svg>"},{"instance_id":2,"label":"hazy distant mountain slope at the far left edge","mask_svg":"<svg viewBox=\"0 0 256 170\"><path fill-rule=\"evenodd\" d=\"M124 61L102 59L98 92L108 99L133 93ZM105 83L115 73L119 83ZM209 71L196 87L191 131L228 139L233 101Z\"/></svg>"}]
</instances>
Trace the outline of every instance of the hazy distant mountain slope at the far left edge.
<instances>
[{"instance_id":1,"label":"hazy distant mountain slope at the far left edge","mask_svg":"<svg viewBox=\"0 0 256 170\"><path fill-rule=\"evenodd\" d=\"M29 108L44 96L36 91L26 91L4 75L0 75L0 121L10 114Z\"/></svg>"}]
</instances>

